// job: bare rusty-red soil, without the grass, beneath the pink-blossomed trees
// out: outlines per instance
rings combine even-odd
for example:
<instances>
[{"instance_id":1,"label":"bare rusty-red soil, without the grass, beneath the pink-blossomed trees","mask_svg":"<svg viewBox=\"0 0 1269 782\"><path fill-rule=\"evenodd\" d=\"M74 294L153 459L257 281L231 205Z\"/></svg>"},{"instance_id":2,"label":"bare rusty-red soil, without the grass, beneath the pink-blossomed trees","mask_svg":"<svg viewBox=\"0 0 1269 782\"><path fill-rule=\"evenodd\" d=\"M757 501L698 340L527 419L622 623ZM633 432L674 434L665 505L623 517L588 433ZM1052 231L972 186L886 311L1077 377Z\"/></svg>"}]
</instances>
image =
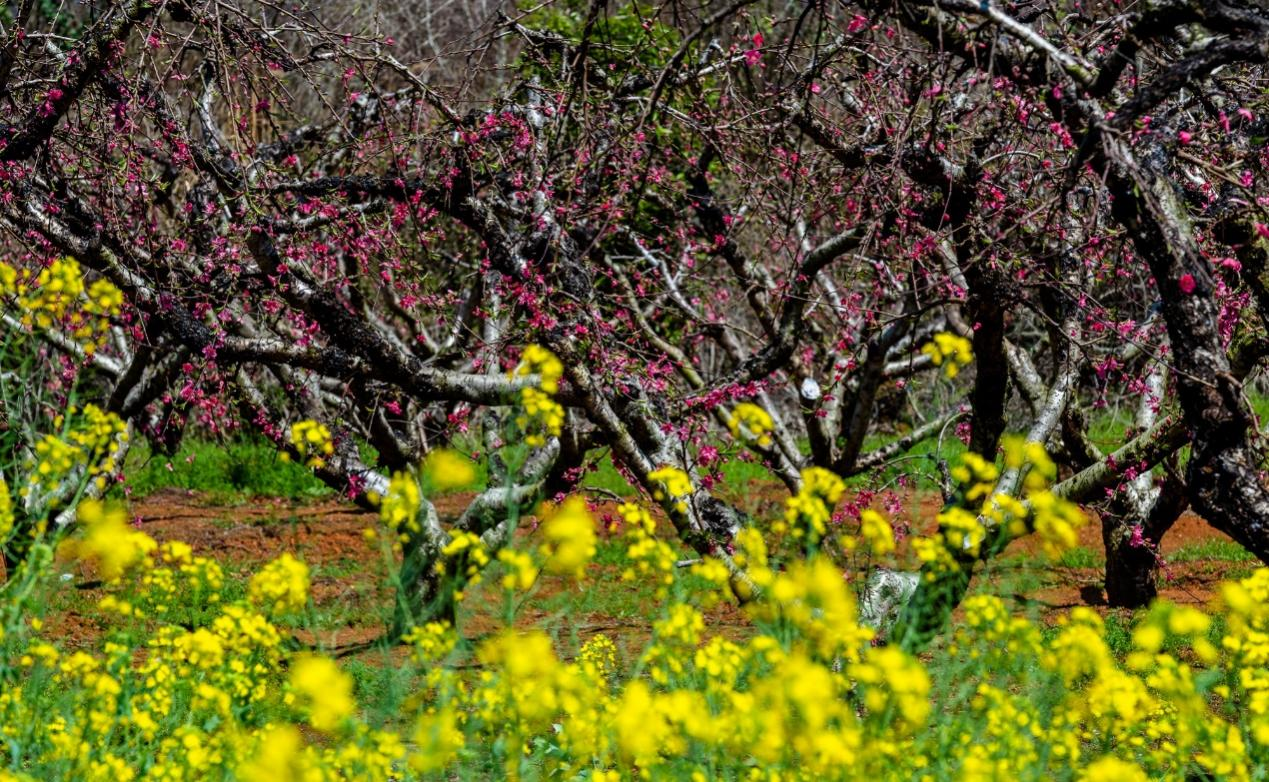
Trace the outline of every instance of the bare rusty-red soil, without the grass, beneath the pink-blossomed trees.
<instances>
[{"instance_id":1,"label":"bare rusty-red soil, without the grass, beneath the pink-blossomed trees","mask_svg":"<svg viewBox=\"0 0 1269 782\"><path fill-rule=\"evenodd\" d=\"M774 486L751 486L745 491L744 507L764 508L775 498ZM442 498L438 510L442 517L453 518L466 505L467 496ZM933 495L910 496L906 504L910 523L921 528L933 523L938 513L939 500ZM284 551L294 552L315 567L312 584L313 602L319 608L338 606L353 600L365 590L383 590L382 555L378 545L365 538L363 532L376 526L373 514L358 510L346 503L322 501L294 504L280 500L253 500L235 507L208 505L198 495L169 490L132 504L132 512L140 529L161 541L180 540L189 543L195 553L212 556L233 570L250 573L258 565ZM600 508L599 514L612 513L612 508ZM902 519L896 519L902 520ZM532 534L533 519L522 527L520 536ZM667 526L662 524L661 528ZM1100 526L1093 519L1080 532L1080 545L1085 548L1101 551ZM1225 538L1222 533L1208 527L1199 517L1187 513L1164 538L1162 552L1169 553L1197 541ZM1226 538L1227 540L1227 538ZM1000 579L1001 569L1020 555L1038 556L1038 542L1023 538L1014 542L1005 552L1000 567L989 567L987 578ZM902 551L901 551L902 555ZM364 561L365 567L348 567L349 560ZM322 575L324 566L335 567L341 575ZM1206 603L1213 595L1216 584L1231 574L1246 573L1253 562L1198 561L1166 565L1160 593L1181 603ZM1104 609L1104 597L1100 589L1103 574L1099 567L1063 567L1051 565L1044 571L1044 585L1030 594L1018 595L1019 603L1025 599L1030 607L1039 607L1042 613L1052 614L1075 606L1094 606ZM577 585L567 579L543 576L534 599L522 611L518 625L536 625L548 618L538 608L546 598L566 589L596 588L604 581L603 589L628 588L618 581L615 570L603 574L588 585ZM96 594L89 590L86 597ZM385 599L390 599L383 593ZM464 611L463 632L467 637L481 637L496 631L501 623L497 620L500 606L490 597L473 598ZM619 639L627 649L638 649L646 641L648 627L645 622L629 618L609 617L602 613L572 617L574 630L580 639L596 632L605 632ZM720 603L707 612L712 632L725 635L744 635L747 621L733 604ZM72 611L61 612L49 618L51 628L70 645L91 642L99 635L99 628L91 616ZM372 644L382 632L377 621L355 623L321 633L298 632L299 641L321 644L327 649L355 650ZM379 654L379 653L368 653ZM391 653L398 659L404 650Z\"/></svg>"}]
</instances>

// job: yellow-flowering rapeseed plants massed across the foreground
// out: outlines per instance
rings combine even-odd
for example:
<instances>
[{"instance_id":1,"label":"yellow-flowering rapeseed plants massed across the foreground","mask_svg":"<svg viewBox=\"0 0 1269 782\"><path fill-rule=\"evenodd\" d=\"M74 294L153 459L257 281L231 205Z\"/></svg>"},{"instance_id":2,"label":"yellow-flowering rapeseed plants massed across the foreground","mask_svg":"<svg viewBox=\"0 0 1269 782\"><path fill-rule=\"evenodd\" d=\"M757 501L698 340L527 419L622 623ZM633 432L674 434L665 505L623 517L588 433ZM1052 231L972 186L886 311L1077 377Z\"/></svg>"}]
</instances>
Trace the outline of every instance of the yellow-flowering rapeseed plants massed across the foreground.
<instances>
[{"instance_id":1,"label":"yellow-flowering rapeseed plants massed across the foreground","mask_svg":"<svg viewBox=\"0 0 1269 782\"><path fill-rule=\"evenodd\" d=\"M527 350L524 366L542 390L558 381L560 367L538 352ZM46 475L94 475L109 460L98 444L118 433L115 421L74 420L82 427L55 438L74 454L49 446ZM306 458L329 456L319 427L298 441ZM956 470L962 513L945 510L940 533L914 540L921 559L954 564L1000 531L1034 531L1055 550L1068 543L1082 517L1048 491L1047 456L1025 444L1006 451L1006 470L1030 466L1023 495L995 493L999 468L967 457ZM423 485L466 481L463 467L434 461ZM664 470L657 480L667 496L690 495L687 474ZM456 623L420 621L405 628L409 656L393 674L409 682L406 694L387 708L373 706L348 666L283 626L311 602L302 560L283 553L239 599L214 560L156 543L117 505L81 501L76 529L33 527L24 562L0 586L0 781L1263 776L1269 569L1223 585L1212 607L1157 602L1126 655L1090 609L1042 627L977 594L948 642L917 658L878 645L822 545L845 534L834 523L841 480L808 471L802 486L778 523L816 545L791 557L759 526L732 541L732 562L760 589L742 608L745 632L714 632L702 611L730 599L720 560L676 567L654 517L624 503L623 580L652 585L660 599L642 647L595 633L570 658L558 639L514 616L476 640ZM423 491L414 475L393 477L379 505L385 526L418 533ZM4 484L0 494L3 531L13 498ZM437 562L471 584L496 559L505 590L532 593L539 571L585 583L596 543L584 500L571 498L546 518L537 548L495 552L477 531L454 531ZM893 556L895 532L865 510L854 546ZM79 565L104 581L103 632L84 647L39 616L41 595ZM699 583L712 588L702 594Z\"/></svg>"}]
</instances>

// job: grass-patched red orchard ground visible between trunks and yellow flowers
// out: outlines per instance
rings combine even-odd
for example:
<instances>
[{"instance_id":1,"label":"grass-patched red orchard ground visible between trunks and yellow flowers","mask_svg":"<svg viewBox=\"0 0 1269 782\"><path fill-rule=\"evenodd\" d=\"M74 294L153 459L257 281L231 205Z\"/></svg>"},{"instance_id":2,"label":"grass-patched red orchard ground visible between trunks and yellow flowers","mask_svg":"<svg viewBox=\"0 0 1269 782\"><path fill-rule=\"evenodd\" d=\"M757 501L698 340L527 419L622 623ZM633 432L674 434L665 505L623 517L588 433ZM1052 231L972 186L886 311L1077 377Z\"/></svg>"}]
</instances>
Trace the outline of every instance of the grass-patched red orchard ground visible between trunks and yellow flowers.
<instances>
[{"instance_id":1,"label":"grass-patched red orchard ground visible between trunks and yellow flowers","mask_svg":"<svg viewBox=\"0 0 1269 782\"><path fill-rule=\"evenodd\" d=\"M250 463L250 454L226 456L231 457L226 463L242 458ZM226 599L241 597L247 579L278 555L292 552L303 559L312 569L312 609L293 628L296 640L344 658L365 686L364 694L382 687L378 672L393 668L383 663L398 663L405 650L383 649L376 642L392 609L387 564L379 546L367 538L367 531L382 529L377 515L324 494L308 482L306 474L292 472L291 465L265 463L259 471L242 474L254 482L235 485L206 461L197 471L192 468L197 460L178 462L170 471L164 462L154 475L148 467L140 470L136 485L141 490L129 501L135 524L160 542L184 541L195 553L221 561L230 576ZM176 486L160 487L162 474ZM220 485L213 486L216 482ZM613 480L600 471L591 482ZM275 495L260 494L255 484ZM180 487L188 485L203 487ZM749 479L728 482L725 496L756 519L772 519L780 514L787 494L770 480ZM938 513L938 494L916 487L900 496L904 512L895 520L906 520L912 533L930 532ZM450 494L438 498L437 508L443 518L454 518L470 499L468 493ZM614 522L613 508L612 501L602 503L595 510L596 519ZM524 519L518 532L522 542L533 541L536 527L534 518ZM659 526L659 536L675 543L684 560L693 556L673 540L669 524ZM1072 607L1089 606L1107 618L1112 649L1126 653L1136 612L1105 606L1101 551L1100 527L1090 515L1089 524L1080 531L1079 546L1058 561L1046 560L1033 538L1022 538L987 564L975 579L973 590L996 594L1016 613L1038 617L1046 625ZM579 585L572 579L543 574L516 616L516 625L547 630L565 656L591 635L603 632L618 644L627 660L637 658L648 641L660 602L655 585L623 580L628 565L624 552L619 531L602 531L593 578ZM905 553L901 547L901 559ZM1242 547L1193 513L1185 513L1167 533L1161 553L1165 565L1160 595L1180 604L1206 606L1221 580L1244 578L1256 565ZM501 626L500 569L500 564L492 564L482 583L464 595L459 632L468 641L476 642ZM860 569L848 578L863 574ZM692 584L690 574L680 575ZM69 567L62 583L51 606L52 630L67 649L89 647L102 631L95 606L103 593L93 574L77 566ZM702 594L711 592L703 580L697 586ZM717 602L704 613L712 633L742 639L750 632L745 613L732 602Z\"/></svg>"}]
</instances>

